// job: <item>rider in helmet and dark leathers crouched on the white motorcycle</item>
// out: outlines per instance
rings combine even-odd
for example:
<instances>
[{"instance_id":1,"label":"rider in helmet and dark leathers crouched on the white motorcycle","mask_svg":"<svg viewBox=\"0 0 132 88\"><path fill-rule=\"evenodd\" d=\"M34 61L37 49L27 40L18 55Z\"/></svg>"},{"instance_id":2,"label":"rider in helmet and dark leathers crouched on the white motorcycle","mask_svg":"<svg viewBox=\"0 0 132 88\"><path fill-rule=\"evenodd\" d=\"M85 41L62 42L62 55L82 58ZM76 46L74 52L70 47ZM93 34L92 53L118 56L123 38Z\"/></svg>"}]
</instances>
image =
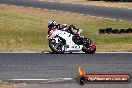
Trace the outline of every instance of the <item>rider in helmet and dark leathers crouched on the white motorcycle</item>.
<instances>
[{"instance_id":1,"label":"rider in helmet and dark leathers crouched on the white motorcycle","mask_svg":"<svg viewBox=\"0 0 132 88\"><path fill-rule=\"evenodd\" d=\"M56 21L50 20L48 22L48 33L51 31L52 28L57 28L58 30L67 31L73 35L80 35L79 29L77 29L73 25L67 25L67 24L57 24Z\"/></svg>"}]
</instances>

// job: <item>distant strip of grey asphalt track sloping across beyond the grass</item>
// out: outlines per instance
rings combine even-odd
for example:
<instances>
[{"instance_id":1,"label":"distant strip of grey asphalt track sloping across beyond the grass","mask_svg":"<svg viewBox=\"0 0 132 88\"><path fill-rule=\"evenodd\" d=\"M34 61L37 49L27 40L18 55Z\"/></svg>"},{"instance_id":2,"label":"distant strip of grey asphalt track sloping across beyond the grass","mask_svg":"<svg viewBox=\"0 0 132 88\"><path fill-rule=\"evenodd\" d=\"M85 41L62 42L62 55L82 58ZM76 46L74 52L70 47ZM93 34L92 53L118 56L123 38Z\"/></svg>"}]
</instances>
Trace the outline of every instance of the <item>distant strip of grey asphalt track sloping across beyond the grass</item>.
<instances>
[{"instance_id":1,"label":"distant strip of grey asphalt track sloping across beyond the grass","mask_svg":"<svg viewBox=\"0 0 132 88\"><path fill-rule=\"evenodd\" d=\"M2 4L10 4L17 6L27 6L50 10L59 10L73 13L88 14L97 17L111 18L117 20L132 21L132 9L125 8L109 8L92 5L77 5L57 2L41 2L38 0L0 0Z\"/></svg>"}]
</instances>

